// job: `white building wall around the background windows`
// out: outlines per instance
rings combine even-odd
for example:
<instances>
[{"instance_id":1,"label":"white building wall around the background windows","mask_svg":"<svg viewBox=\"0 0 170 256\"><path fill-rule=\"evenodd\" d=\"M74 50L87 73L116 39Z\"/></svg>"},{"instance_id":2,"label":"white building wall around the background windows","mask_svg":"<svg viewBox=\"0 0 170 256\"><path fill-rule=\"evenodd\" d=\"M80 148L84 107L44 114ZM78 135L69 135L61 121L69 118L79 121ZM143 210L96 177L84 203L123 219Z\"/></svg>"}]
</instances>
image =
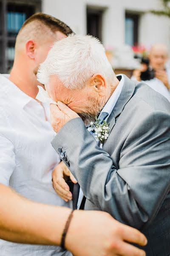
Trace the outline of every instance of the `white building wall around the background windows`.
<instances>
[{"instance_id":1,"label":"white building wall around the background windows","mask_svg":"<svg viewBox=\"0 0 170 256\"><path fill-rule=\"evenodd\" d=\"M139 43L150 47L156 42L170 45L170 19L146 13L160 9L160 0L43 0L42 11L63 20L80 34L86 33L86 6L104 8L102 37L105 47L125 43L125 11L141 16Z\"/></svg>"}]
</instances>

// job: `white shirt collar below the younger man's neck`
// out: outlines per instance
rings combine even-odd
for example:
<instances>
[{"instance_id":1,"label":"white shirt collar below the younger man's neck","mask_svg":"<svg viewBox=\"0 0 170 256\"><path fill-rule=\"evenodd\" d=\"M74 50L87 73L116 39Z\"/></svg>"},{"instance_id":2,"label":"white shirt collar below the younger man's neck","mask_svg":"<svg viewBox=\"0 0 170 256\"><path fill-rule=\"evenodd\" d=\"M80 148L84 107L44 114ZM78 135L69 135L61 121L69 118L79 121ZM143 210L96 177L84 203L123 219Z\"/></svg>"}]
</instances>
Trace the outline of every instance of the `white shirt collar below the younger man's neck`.
<instances>
[{"instance_id":1,"label":"white shirt collar below the younger man's neck","mask_svg":"<svg viewBox=\"0 0 170 256\"><path fill-rule=\"evenodd\" d=\"M6 93L8 99L16 102L21 108L24 108L28 102L35 101L35 99L20 90L8 77L9 75L0 74L0 89L3 90L3 93Z\"/></svg>"}]
</instances>

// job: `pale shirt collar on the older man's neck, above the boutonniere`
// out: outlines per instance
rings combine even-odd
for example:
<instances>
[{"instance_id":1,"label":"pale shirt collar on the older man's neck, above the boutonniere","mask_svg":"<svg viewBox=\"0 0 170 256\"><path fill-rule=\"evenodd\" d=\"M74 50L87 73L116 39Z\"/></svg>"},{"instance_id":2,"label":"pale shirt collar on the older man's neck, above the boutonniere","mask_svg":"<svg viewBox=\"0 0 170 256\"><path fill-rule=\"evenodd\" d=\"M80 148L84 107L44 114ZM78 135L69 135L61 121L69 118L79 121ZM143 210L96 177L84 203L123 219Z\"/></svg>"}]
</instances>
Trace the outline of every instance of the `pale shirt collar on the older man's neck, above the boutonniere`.
<instances>
[{"instance_id":1,"label":"pale shirt collar on the older man's neck, above the boutonniere","mask_svg":"<svg viewBox=\"0 0 170 256\"><path fill-rule=\"evenodd\" d=\"M122 92L122 88L125 82L125 77L123 76L123 74L119 74L117 76L121 76L121 80L118 86L116 87L116 89L114 90L114 92L112 93L111 97L108 99L108 102L105 104L105 107L101 111L101 113L102 112L108 113L107 119L109 118L114 106L116 105L117 100L119 99L120 93ZM99 119L100 119L100 115L99 115ZM107 121L107 119L105 121Z\"/></svg>"}]
</instances>

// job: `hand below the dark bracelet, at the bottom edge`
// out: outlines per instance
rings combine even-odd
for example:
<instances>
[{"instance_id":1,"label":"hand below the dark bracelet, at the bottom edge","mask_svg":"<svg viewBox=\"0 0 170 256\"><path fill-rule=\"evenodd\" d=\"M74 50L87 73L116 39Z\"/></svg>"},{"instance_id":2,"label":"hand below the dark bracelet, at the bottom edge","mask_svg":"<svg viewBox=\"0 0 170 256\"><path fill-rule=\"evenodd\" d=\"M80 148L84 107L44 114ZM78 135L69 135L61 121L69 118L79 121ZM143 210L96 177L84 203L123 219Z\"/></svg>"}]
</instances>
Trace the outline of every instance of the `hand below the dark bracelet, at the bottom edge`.
<instances>
[{"instance_id":1,"label":"hand below the dark bracelet, at the bottom edge","mask_svg":"<svg viewBox=\"0 0 170 256\"><path fill-rule=\"evenodd\" d=\"M121 224L106 212L74 211L65 246L74 256L145 256L146 238L138 230Z\"/></svg>"}]
</instances>

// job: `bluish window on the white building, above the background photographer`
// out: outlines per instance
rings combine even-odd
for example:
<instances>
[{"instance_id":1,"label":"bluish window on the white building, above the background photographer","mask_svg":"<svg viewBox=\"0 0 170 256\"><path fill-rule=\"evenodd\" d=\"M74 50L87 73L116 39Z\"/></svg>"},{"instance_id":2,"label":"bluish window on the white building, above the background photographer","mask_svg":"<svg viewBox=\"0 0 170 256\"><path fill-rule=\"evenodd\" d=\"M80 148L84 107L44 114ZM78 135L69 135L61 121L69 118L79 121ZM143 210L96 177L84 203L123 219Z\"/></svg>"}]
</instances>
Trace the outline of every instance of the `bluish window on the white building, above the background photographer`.
<instances>
[{"instance_id":1,"label":"bluish window on the white building, above the background photographer","mask_svg":"<svg viewBox=\"0 0 170 256\"><path fill-rule=\"evenodd\" d=\"M139 15L126 13L125 15L125 44L134 46L138 44Z\"/></svg>"}]
</instances>

